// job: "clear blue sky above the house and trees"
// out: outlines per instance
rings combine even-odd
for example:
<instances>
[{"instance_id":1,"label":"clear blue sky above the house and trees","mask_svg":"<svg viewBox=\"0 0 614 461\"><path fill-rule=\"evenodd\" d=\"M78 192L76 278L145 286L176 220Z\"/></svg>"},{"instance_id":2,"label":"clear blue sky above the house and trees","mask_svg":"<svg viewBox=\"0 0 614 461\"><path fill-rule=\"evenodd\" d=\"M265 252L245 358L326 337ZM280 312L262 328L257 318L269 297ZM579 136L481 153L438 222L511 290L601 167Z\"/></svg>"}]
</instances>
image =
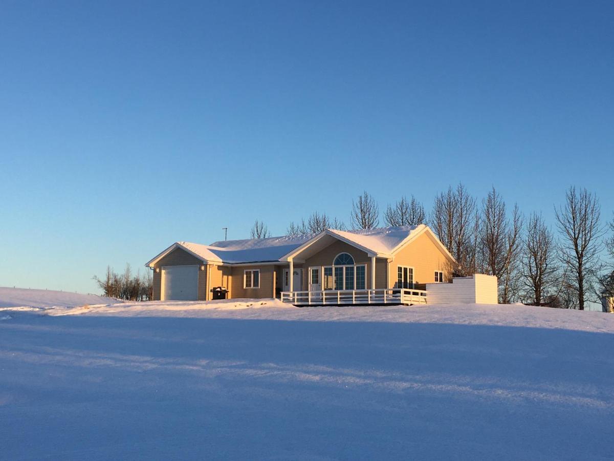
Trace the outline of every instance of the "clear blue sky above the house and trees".
<instances>
[{"instance_id":1,"label":"clear blue sky above the house and trees","mask_svg":"<svg viewBox=\"0 0 614 461\"><path fill-rule=\"evenodd\" d=\"M462 181L614 191L614 2L0 3L0 286Z\"/></svg>"}]
</instances>

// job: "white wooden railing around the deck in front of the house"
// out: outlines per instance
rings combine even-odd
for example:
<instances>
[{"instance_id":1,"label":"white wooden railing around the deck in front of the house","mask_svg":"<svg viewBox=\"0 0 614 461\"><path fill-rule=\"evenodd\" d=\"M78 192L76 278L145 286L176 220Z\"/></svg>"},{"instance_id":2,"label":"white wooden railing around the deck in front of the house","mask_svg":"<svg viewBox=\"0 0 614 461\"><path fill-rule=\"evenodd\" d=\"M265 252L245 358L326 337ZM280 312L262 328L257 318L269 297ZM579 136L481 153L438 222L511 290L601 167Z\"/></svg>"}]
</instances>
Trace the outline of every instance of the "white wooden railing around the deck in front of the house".
<instances>
[{"instance_id":1,"label":"white wooden railing around the deck in front of the house","mask_svg":"<svg viewBox=\"0 0 614 461\"><path fill-rule=\"evenodd\" d=\"M426 291L413 288L377 290L282 291L281 301L298 305L426 304Z\"/></svg>"}]
</instances>

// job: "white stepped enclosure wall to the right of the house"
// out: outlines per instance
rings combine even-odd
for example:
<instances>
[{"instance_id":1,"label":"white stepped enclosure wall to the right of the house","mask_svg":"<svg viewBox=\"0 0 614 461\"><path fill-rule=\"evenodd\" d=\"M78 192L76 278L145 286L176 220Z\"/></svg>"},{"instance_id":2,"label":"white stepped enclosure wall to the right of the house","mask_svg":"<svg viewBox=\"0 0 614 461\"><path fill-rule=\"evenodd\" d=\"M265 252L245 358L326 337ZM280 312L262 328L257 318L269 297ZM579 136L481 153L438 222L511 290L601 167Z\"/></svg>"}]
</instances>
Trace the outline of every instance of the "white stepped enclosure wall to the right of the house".
<instances>
[{"instance_id":1,"label":"white stepped enclosure wall to the right of the house","mask_svg":"<svg viewBox=\"0 0 614 461\"><path fill-rule=\"evenodd\" d=\"M497 304L497 277L475 274L452 280L453 283L427 283L427 303Z\"/></svg>"}]
</instances>

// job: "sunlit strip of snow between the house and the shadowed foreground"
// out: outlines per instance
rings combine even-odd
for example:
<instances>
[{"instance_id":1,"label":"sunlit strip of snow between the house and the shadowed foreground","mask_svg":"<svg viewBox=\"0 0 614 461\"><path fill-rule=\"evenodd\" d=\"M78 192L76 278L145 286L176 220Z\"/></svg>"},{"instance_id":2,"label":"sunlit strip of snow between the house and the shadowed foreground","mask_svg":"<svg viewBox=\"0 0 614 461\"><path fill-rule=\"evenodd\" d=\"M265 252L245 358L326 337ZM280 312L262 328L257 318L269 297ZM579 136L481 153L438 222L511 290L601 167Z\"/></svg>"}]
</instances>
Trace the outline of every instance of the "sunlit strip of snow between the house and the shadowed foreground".
<instances>
[{"instance_id":1,"label":"sunlit strip of snow between the house and the shadowed foreground","mask_svg":"<svg viewBox=\"0 0 614 461\"><path fill-rule=\"evenodd\" d=\"M281 308L281 309L280 309ZM247 309L247 312L226 312ZM200 317L251 320L386 321L395 323L454 323L530 328L564 328L614 333L614 315L601 312L550 309L526 305L459 304L391 306L301 307L277 299L220 301L125 302L52 309L47 315L101 315L112 317Z\"/></svg>"}]
</instances>

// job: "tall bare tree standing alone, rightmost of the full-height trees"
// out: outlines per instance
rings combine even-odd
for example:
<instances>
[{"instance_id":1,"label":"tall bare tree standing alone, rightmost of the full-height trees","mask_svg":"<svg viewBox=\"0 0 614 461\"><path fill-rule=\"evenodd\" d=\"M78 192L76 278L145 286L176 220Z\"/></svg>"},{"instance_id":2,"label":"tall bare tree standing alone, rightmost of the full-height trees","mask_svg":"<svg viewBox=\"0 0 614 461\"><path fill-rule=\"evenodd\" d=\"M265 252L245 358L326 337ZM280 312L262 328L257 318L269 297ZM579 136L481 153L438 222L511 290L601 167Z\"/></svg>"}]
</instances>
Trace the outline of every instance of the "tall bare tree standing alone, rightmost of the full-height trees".
<instances>
[{"instance_id":1,"label":"tall bare tree standing alone, rightmost of the full-height trees","mask_svg":"<svg viewBox=\"0 0 614 461\"><path fill-rule=\"evenodd\" d=\"M570 284L578 296L578 309L583 310L586 293L594 287L600 270L600 238L604 230L599 223L599 199L586 189L577 191L572 186L565 193L565 205L554 208L554 212L562 236L560 259L569 270Z\"/></svg>"}]
</instances>

